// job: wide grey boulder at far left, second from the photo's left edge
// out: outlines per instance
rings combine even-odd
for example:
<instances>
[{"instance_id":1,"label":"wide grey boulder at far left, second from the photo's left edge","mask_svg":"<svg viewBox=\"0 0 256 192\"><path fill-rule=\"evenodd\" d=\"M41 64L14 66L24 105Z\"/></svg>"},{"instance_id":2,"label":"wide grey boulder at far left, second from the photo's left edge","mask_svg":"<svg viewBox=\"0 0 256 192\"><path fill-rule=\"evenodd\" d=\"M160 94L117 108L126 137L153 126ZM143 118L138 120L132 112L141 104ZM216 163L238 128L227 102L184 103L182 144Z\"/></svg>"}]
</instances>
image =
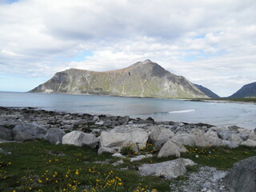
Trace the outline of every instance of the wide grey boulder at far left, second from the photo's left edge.
<instances>
[{"instance_id":1,"label":"wide grey boulder at far left, second from the photo's left edge","mask_svg":"<svg viewBox=\"0 0 256 192\"><path fill-rule=\"evenodd\" d=\"M38 126L37 123L22 123L14 127L14 133L23 132L24 134L30 134L34 138L44 138L46 135L46 128Z\"/></svg>"}]
</instances>

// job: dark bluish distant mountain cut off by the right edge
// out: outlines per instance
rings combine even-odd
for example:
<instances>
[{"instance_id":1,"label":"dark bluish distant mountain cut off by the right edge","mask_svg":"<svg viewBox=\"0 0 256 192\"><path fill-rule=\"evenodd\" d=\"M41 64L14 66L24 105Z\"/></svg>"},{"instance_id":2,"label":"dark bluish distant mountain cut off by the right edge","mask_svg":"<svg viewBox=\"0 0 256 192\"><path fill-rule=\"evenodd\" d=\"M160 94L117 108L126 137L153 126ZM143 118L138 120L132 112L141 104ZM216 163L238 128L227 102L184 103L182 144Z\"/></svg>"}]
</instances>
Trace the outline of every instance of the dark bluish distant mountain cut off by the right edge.
<instances>
[{"instance_id":1,"label":"dark bluish distant mountain cut off by the right edge","mask_svg":"<svg viewBox=\"0 0 256 192\"><path fill-rule=\"evenodd\" d=\"M242 86L240 90L228 98L256 98L256 82Z\"/></svg>"}]
</instances>

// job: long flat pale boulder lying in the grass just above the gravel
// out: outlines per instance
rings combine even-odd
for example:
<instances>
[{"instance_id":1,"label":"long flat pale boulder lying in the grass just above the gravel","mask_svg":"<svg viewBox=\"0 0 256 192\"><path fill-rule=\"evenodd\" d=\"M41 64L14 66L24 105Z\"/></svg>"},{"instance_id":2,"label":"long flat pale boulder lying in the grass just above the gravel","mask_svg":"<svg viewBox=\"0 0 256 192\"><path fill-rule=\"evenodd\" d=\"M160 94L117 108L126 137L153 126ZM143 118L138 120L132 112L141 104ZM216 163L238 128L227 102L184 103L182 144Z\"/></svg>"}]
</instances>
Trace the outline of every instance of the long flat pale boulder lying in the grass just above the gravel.
<instances>
[{"instance_id":1,"label":"long flat pale boulder lying in the grass just above the gravel","mask_svg":"<svg viewBox=\"0 0 256 192\"><path fill-rule=\"evenodd\" d=\"M195 166L196 163L188 158L177 158L168 162L144 164L138 167L142 176L154 175L164 178L177 178L186 173L186 166Z\"/></svg>"}]
</instances>

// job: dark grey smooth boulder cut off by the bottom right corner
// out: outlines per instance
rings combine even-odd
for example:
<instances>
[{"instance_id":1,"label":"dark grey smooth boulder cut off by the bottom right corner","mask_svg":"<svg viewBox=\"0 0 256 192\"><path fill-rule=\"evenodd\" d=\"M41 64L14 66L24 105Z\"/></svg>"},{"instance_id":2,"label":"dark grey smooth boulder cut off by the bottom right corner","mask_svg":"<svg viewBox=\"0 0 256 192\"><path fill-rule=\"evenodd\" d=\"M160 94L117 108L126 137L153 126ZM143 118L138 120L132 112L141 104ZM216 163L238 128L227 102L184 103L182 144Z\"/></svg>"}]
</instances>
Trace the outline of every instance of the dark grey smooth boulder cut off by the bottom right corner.
<instances>
[{"instance_id":1,"label":"dark grey smooth boulder cut off by the bottom right corner","mask_svg":"<svg viewBox=\"0 0 256 192\"><path fill-rule=\"evenodd\" d=\"M256 156L234 163L233 168L223 179L230 192L256 191Z\"/></svg>"}]
</instances>

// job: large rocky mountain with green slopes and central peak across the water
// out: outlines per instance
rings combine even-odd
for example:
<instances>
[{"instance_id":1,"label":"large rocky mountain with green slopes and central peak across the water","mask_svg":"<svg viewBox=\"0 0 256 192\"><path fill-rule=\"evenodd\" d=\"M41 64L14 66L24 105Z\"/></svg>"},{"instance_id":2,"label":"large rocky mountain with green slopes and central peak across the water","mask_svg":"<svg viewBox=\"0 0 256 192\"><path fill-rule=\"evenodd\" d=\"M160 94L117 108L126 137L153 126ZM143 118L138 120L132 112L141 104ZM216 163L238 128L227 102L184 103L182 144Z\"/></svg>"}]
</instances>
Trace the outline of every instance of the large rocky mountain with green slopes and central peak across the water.
<instances>
[{"instance_id":1,"label":"large rocky mountain with green slopes and central peak across the water","mask_svg":"<svg viewBox=\"0 0 256 192\"><path fill-rule=\"evenodd\" d=\"M136 62L122 70L96 72L70 69L58 72L30 92L106 94L127 97L207 98L182 76L155 62Z\"/></svg>"}]
</instances>

